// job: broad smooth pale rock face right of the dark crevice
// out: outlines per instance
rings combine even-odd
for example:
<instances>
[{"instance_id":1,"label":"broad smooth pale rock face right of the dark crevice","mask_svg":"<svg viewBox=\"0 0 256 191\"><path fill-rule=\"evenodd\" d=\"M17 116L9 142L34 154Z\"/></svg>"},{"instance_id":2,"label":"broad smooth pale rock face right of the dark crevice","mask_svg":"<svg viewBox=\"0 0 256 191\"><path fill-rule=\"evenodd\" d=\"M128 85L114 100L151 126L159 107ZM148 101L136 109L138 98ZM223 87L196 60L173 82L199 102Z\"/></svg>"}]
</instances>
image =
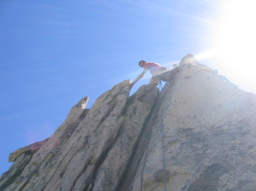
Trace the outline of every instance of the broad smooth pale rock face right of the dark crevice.
<instances>
[{"instance_id":1,"label":"broad smooth pale rock face right of the dark crevice","mask_svg":"<svg viewBox=\"0 0 256 191\"><path fill-rule=\"evenodd\" d=\"M161 92L150 144L129 190L255 190L256 96L191 55L179 70Z\"/></svg>"}]
</instances>

